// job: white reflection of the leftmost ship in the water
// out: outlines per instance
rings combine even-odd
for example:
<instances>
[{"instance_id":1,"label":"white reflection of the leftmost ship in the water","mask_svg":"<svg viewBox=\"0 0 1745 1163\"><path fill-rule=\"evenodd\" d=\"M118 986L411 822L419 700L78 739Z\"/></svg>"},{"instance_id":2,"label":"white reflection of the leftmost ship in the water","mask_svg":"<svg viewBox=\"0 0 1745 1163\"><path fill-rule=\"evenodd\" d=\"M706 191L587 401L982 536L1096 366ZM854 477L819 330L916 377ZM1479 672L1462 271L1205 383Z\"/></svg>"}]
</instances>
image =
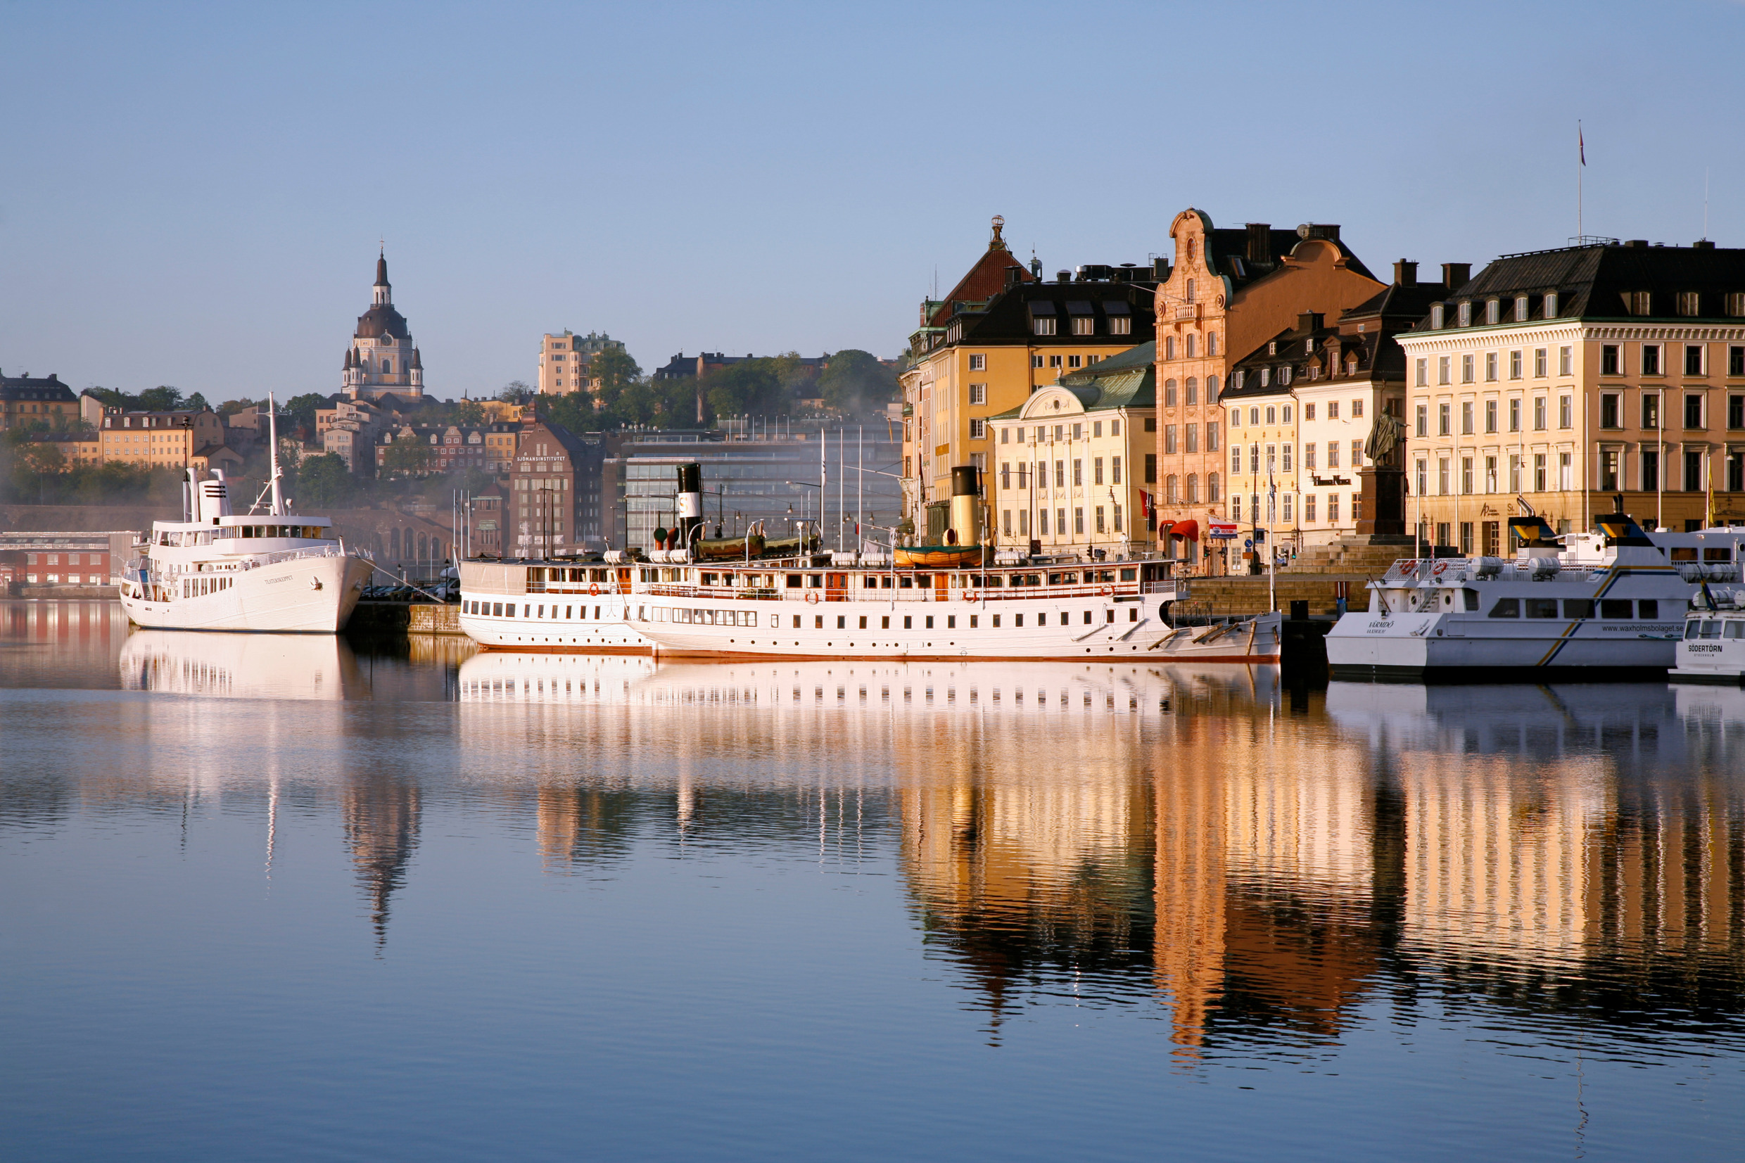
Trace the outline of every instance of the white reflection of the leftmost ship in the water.
<instances>
[{"instance_id":1,"label":"white reflection of the leftmost ship in the water","mask_svg":"<svg viewBox=\"0 0 1745 1163\"><path fill-rule=\"evenodd\" d=\"M138 629L120 649L124 690L237 699L344 699L365 682L337 635Z\"/></svg>"}]
</instances>

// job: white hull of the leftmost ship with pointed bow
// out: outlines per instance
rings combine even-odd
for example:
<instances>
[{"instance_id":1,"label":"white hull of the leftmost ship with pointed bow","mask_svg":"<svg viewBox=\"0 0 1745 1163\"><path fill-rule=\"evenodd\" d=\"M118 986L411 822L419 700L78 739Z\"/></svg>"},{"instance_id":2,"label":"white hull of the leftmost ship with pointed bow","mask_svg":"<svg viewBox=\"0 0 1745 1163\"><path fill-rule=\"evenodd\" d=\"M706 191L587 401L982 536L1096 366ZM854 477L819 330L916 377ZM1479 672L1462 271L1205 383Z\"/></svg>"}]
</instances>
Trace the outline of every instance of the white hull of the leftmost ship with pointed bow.
<instances>
[{"instance_id":1,"label":"white hull of the leftmost ship with pointed bow","mask_svg":"<svg viewBox=\"0 0 1745 1163\"><path fill-rule=\"evenodd\" d=\"M120 605L145 629L332 635L346 628L372 565L354 554L293 558L232 574L216 593L152 600L162 586L124 579Z\"/></svg>"}]
</instances>

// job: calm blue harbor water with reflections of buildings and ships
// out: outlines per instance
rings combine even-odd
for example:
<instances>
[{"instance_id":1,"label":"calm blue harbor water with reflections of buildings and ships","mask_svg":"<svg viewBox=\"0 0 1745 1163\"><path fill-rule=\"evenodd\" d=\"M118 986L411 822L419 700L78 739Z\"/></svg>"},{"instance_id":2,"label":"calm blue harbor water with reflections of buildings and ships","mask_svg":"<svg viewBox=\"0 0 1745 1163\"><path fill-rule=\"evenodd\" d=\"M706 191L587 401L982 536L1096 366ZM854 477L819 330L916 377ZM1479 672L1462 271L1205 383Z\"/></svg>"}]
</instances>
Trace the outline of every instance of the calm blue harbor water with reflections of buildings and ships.
<instances>
[{"instance_id":1,"label":"calm blue harbor water with reflections of buildings and ships","mask_svg":"<svg viewBox=\"0 0 1745 1163\"><path fill-rule=\"evenodd\" d=\"M1736 1160L1745 692L0 603L19 1160Z\"/></svg>"}]
</instances>

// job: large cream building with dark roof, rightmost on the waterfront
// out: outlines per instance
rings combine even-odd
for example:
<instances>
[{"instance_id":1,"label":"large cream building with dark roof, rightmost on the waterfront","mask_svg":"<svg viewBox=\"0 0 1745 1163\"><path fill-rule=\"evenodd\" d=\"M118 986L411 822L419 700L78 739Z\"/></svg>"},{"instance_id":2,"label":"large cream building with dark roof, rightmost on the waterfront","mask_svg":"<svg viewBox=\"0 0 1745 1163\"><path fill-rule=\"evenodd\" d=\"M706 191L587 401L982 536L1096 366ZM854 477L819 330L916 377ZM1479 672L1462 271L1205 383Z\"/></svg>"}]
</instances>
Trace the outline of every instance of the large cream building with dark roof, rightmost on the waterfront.
<instances>
[{"instance_id":1,"label":"large cream building with dark roof, rightmost on the waterfront","mask_svg":"<svg viewBox=\"0 0 1745 1163\"><path fill-rule=\"evenodd\" d=\"M1422 537L1504 553L1520 500L1569 532L1618 493L1644 523L1745 523L1745 249L1588 239L1452 282L1398 337Z\"/></svg>"}]
</instances>

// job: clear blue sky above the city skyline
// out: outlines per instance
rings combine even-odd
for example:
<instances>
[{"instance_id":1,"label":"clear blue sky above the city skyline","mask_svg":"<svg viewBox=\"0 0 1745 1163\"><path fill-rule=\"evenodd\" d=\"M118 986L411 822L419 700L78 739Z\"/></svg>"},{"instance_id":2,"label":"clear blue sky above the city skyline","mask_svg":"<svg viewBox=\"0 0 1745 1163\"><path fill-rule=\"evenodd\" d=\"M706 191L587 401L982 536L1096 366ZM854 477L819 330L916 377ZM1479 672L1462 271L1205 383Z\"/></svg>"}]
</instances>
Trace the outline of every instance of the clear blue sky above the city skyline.
<instances>
[{"instance_id":1,"label":"clear blue sky above the city skyline","mask_svg":"<svg viewBox=\"0 0 1745 1163\"><path fill-rule=\"evenodd\" d=\"M539 335L895 354L1005 214L1176 211L1377 274L1586 230L1745 244L1745 5L0 3L0 368L332 392L379 237L438 396Z\"/></svg>"}]
</instances>

